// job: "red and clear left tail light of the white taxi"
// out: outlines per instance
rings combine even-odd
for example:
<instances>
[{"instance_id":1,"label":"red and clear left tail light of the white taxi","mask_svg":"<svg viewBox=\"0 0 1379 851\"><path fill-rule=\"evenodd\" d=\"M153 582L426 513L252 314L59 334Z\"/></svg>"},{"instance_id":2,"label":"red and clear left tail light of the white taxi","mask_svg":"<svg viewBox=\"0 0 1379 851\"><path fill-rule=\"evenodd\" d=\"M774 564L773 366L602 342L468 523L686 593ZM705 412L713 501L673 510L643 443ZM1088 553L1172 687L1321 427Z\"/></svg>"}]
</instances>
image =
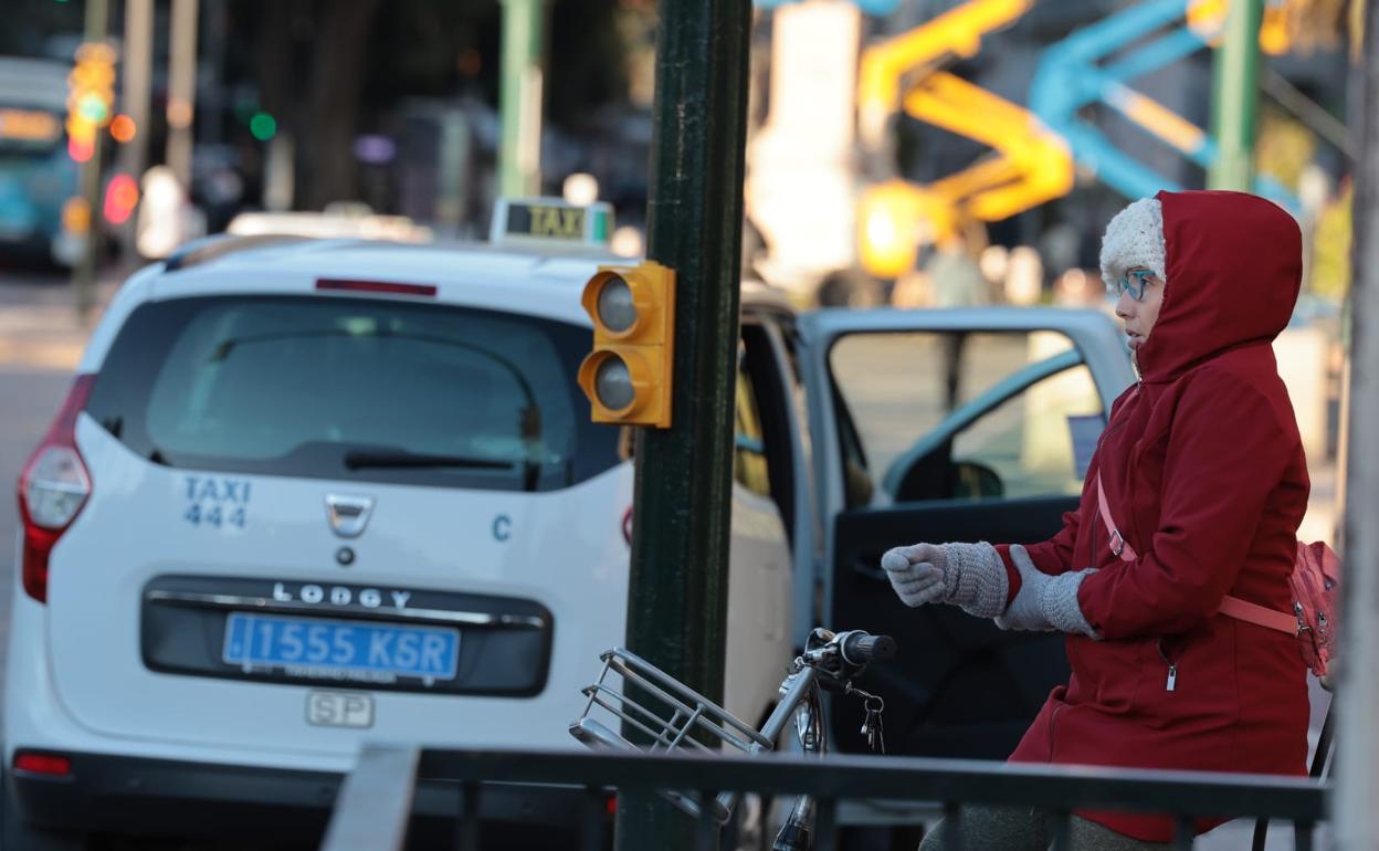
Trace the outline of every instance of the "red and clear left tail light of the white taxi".
<instances>
[{"instance_id":1,"label":"red and clear left tail light of the white taxi","mask_svg":"<svg viewBox=\"0 0 1379 851\"><path fill-rule=\"evenodd\" d=\"M23 590L48 600L48 556L91 494L91 474L77 451L77 415L91 396L95 375L77 375L62 410L19 473L23 523Z\"/></svg>"}]
</instances>

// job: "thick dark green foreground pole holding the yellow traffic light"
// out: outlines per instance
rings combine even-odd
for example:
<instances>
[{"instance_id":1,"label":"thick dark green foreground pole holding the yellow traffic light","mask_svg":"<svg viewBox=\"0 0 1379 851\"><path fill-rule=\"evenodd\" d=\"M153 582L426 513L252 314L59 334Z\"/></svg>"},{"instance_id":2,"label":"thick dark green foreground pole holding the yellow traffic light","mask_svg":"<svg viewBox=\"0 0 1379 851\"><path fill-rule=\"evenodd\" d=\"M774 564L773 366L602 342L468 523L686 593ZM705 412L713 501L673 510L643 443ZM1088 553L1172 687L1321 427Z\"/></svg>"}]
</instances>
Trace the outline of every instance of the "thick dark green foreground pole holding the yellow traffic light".
<instances>
[{"instance_id":1,"label":"thick dark green foreground pole holding the yellow traffic light","mask_svg":"<svg viewBox=\"0 0 1379 851\"><path fill-rule=\"evenodd\" d=\"M659 8L648 257L677 273L673 426L637 436L627 645L721 703L752 4ZM654 792L619 793L619 851L694 834Z\"/></svg>"}]
</instances>

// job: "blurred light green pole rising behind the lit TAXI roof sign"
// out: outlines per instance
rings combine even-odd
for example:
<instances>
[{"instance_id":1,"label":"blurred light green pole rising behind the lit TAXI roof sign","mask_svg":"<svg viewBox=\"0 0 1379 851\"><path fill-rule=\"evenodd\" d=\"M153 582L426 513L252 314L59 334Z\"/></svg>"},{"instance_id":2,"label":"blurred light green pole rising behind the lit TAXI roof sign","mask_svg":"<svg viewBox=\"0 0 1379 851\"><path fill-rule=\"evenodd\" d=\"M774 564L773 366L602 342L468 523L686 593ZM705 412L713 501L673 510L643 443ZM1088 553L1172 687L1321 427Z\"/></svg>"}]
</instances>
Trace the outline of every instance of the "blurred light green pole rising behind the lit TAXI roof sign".
<instances>
[{"instance_id":1,"label":"blurred light green pole rising behind the lit TAXI roof sign","mask_svg":"<svg viewBox=\"0 0 1379 851\"><path fill-rule=\"evenodd\" d=\"M498 192L507 197L541 193L541 102L545 0L502 0L502 81L498 106L502 142Z\"/></svg>"}]
</instances>

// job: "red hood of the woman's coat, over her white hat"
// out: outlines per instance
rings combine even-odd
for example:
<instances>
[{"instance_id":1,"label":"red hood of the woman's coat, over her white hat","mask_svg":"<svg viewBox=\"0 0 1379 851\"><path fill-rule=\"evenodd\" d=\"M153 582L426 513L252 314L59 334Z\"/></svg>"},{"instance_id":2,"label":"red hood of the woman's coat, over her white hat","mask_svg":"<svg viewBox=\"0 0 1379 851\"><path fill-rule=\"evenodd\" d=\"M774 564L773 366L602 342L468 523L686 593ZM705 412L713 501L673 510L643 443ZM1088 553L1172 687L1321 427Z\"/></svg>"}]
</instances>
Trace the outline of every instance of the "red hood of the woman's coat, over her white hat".
<instances>
[{"instance_id":1,"label":"red hood of the woman's coat, over her white hat","mask_svg":"<svg viewBox=\"0 0 1379 851\"><path fill-rule=\"evenodd\" d=\"M1160 192L1164 305L1136 352L1146 382L1288 326L1302 286L1302 232L1287 211L1241 192Z\"/></svg>"}]
</instances>

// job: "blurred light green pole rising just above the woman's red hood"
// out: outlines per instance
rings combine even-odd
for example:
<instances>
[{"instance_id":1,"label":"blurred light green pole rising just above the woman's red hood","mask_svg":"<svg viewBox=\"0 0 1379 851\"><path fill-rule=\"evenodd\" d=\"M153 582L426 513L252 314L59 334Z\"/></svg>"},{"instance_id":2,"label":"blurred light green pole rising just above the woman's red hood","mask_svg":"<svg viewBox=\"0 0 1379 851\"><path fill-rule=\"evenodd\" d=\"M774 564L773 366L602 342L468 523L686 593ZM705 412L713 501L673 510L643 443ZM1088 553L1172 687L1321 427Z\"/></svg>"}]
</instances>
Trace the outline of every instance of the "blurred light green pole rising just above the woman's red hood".
<instances>
[{"instance_id":1,"label":"blurred light green pole rising just above the woman's red hood","mask_svg":"<svg viewBox=\"0 0 1379 851\"><path fill-rule=\"evenodd\" d=\"M1255 121L1259 112L1259 23L1265 0L1230 0L1226 32L1212 69L1212 189L1249 192L1255 185Z\"/></svg>"}]
</instances>

